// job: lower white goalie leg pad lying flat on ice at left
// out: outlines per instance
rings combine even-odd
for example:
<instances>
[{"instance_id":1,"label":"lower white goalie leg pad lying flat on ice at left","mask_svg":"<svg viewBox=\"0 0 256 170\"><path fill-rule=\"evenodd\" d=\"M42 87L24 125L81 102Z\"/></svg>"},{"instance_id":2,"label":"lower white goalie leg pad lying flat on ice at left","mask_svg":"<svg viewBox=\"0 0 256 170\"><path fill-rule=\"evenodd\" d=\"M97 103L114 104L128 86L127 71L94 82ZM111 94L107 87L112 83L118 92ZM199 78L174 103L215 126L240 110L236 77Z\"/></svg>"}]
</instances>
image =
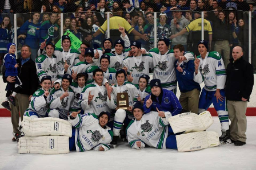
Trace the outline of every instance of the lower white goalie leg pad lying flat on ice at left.
<instances>
[{"instance_id":1,"label":"lower white goalie leg pad lying flat on ice at left","mask_svg":"<svg viewBox=\"0 0 256 170\"><path fill-rule=\"evenodd\" d=\"M69 136L23 136L18 150L19 154L67 154Z\"/></svg>"}]
</instances>

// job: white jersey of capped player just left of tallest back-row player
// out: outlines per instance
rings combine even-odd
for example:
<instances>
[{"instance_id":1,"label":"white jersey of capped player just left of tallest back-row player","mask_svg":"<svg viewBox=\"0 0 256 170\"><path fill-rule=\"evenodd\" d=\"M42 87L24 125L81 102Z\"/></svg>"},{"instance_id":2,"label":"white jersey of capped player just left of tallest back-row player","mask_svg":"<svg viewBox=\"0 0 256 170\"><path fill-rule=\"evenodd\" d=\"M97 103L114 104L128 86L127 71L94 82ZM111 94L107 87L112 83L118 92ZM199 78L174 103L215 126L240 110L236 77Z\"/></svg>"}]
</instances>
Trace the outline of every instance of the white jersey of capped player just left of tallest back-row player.
<instances>
[{"instance_id":1,"label":"white jersey of capped player just left of tallest back-row player","mask_svg":"<svg viewBox=\"0 0 256 170\"><path fill-rule=\"evenodd\" d=\"M129 56L123 60L122 68L127 67L127 73L133 77L133 84L139 83L139 77L149 75L149 69L153 69L153 57L150 54L141 56Z\"/></svg>"}]
</instances>

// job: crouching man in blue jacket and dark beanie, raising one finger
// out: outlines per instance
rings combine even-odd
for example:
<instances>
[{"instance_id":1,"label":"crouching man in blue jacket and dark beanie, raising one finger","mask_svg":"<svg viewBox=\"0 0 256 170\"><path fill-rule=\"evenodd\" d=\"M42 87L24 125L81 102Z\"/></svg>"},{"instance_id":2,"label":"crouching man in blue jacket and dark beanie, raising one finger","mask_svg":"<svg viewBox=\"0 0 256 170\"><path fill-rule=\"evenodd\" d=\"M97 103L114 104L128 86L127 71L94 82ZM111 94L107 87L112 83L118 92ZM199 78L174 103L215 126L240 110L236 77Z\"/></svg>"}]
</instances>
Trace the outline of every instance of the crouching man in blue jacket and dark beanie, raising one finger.
<instances>
[{"instance_id":1,"label":"crouching man in blue jacket and dark beanie, raising one finger","mask_svg":"<svg viewBox=\"0 0 256 170\"><path fill-rule=\"evenodd\" d=\"M144 113L150 111L170 111L171 115L180 114L182 111L181 103L171 90L162 88L159 79L150 81L151 93L145 98L143 103Z\"/></svg>"}]
</instances>

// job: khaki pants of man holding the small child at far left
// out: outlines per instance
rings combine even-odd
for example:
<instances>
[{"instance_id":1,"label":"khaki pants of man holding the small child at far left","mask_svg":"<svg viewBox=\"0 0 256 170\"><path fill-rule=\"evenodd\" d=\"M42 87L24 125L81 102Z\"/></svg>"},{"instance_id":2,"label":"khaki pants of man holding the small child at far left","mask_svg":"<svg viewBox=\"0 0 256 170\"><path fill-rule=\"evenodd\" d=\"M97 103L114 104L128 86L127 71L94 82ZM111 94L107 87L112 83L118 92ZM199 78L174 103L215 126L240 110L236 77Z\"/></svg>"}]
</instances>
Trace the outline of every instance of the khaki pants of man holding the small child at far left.
<instances>
[{"instance_id":1,"label":"khaki pants of man holding the small child at far left","mask_svg":"<svg viewBox=\"0 0 256 170\"><path fill-rule=\"evenodd\" d=\"M15 105L11 105L11 123L13 124L13 132L21 134L19 132L19 114L21 114L21 121L23 120L23 114L29 107L29 96L26 94L17 93L15 96Z\"/></svg>"}]
</instances>

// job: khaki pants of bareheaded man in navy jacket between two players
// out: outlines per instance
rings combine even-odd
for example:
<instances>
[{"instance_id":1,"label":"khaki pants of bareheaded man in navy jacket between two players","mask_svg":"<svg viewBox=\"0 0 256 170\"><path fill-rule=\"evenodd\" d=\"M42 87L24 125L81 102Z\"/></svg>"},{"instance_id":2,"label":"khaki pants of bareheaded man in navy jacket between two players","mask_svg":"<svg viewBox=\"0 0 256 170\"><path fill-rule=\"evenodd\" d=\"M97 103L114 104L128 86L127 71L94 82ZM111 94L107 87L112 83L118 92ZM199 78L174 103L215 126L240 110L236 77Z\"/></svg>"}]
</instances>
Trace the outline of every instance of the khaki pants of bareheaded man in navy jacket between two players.
<instances>
[{"instance_id":1,"label":"khaki pants of bareheaded man in navy jacket between two players","mask_svg":"<svg viewBox=\"0 0 256 170\"><path fill-rule=\"evenodd\" d=\"M186 93L181 92L179 102L183 109L198 114L199 95L200 91L198 89L193 89Z\"/></svg>"}]
</instances>

